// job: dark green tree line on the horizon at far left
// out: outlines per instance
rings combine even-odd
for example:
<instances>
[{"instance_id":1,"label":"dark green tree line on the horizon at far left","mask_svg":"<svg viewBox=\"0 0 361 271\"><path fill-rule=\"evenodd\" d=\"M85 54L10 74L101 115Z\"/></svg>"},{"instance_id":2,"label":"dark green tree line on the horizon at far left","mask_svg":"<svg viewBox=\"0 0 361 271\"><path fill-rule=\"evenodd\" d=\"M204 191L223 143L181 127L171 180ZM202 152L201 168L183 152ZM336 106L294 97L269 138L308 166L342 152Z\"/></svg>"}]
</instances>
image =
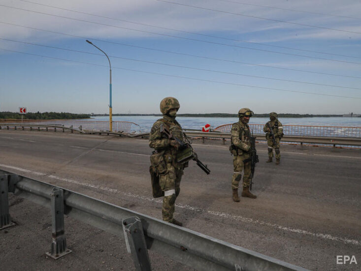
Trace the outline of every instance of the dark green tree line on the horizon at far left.
<instances>
[{"instance_id":1,"label":"dark green tree line on the horizon at far left","mask_svg":"<svg viewBox=\"0 0 361 271\"><path fill-rule=\"evenodd\" d=\"M22 114L23 119L30 120L54 120L54 119L88 119L90 114L74 114L68 112L28 112ZM21 119L21 114L18 112L0 112L0 119Z\"/></svg>"}]
</instances>

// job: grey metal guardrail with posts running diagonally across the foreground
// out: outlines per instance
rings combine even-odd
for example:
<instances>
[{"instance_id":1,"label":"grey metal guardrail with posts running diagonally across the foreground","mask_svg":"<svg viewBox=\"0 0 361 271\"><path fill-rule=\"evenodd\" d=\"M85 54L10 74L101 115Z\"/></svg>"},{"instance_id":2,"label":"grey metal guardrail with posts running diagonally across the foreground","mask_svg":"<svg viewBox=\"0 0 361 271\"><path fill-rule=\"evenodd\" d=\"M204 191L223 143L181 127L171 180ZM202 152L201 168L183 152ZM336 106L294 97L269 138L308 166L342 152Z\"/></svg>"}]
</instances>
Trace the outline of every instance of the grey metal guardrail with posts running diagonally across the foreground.
<instances>
[{"instance_id":1,"label":"grey metal guardrail with posts running diagonally across the foreground","mask_svg":"<svg viewBox=\"0 0 361 271\"><path fill-rule=\"evenodd\" d=\"M0 229L11 223L8 192L51 207L53 237L49 254L53 255L53 258L71 252L66 247L66 214L116 236L125 237L136 270L150 270L146 259L148 255L139 249L144 244L149 250L201 271L306 270L130 209L1 169L0 190ZM143 234L139 235L141 231L137 229L142 230ZM133 231L133 237L130 231Z\"/></svg>"}]
</instances>

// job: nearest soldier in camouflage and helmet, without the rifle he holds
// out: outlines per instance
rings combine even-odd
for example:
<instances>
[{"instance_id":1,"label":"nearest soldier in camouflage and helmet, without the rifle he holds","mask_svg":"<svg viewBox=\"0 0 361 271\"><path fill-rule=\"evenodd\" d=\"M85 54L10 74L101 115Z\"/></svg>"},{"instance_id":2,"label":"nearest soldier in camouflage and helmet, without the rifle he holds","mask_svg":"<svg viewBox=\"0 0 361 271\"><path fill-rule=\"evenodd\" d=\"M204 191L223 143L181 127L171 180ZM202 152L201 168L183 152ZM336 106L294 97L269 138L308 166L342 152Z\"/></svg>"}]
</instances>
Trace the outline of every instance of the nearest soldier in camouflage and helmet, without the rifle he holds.
<instances>
[{"instance_id":1,"label":"nearest soldier in camouflage and helmet, without the rifle he holds","mask_svg":"<svg viewBox=\"0 0 361 271\"><path fill-rule=\"evenodd\" d=\"M162 217L164 221L182 226L182 223L173 218L175 200L180 192L180 182L183 175L183 169L188 166L176 162L176 155L180 144L174 140L165 138L161 133L161 126L164 127L178 139L185 141L182 127L175 120L177 111L180 107L177 99L173 97L164 98L161 102L161 112L163 118L157 120L151 129L149 135L149 146L155 149L156 153L162 153L164 169L158 167L159 184L164 191ZM153 166L153 165L152 165Z\"/></svg>"}]
</instances>

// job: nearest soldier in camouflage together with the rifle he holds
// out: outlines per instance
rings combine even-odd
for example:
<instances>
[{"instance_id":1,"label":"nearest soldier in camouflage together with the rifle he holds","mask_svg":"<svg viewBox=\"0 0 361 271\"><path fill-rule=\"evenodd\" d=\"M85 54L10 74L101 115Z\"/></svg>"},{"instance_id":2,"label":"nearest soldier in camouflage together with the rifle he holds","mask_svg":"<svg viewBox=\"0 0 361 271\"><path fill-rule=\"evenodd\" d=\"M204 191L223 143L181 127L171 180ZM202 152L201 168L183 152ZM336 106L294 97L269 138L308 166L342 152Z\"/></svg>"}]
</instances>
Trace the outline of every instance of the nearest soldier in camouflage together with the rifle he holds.
<instances>
[{"instance_id":1,"label":"nearest soldier in camouflage together with the rifle he holds","mask_svg":"<svg viewBox=\"0 0 361 271\"><path fill-rule=\"evenodd\" d=\"M150 157L150 174L152 179L153 197L163 198L163 220L178 226L182 223L173 218L175 200L180 192L183 170L188 167L189 160L209 174L207 166L197 158L182 127L175 120L180 105L173 97L164 98L160 108L163 118L157 120L150 131L149 146L155 149Z\"/></svg>"}]
</instances>

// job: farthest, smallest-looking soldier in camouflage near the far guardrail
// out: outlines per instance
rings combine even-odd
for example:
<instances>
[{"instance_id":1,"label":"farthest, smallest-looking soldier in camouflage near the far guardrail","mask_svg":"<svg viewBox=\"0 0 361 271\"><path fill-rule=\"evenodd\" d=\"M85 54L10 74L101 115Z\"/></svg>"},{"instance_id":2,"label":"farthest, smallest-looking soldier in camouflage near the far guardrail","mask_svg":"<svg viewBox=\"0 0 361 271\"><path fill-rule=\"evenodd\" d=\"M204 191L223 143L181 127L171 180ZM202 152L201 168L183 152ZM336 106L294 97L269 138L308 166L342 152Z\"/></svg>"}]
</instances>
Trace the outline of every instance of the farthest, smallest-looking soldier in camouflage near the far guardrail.
<instances>
[{"instance_id":1,"label":"farthest, smallest-looking soldier in camouflage near the far guardrail","mask_svg":"<svg viewBox=\"0 0 361 271\"><path fill-rule=\"evenodd\" d=\"M269 133L269 127L267 123L263 127L263 132L266 133L267 145L268 145L268 161L266 163L272 162L273 149L276 153L276 165L280 164L281 153L280 153L280 139L283 136L283 127L282 123L278 120L278 114L276 112L269 113L270 121L267 122L270 124L273 135L276 139L276 144L273 144L272 135Z\"/></svg>"}]
</instances>

